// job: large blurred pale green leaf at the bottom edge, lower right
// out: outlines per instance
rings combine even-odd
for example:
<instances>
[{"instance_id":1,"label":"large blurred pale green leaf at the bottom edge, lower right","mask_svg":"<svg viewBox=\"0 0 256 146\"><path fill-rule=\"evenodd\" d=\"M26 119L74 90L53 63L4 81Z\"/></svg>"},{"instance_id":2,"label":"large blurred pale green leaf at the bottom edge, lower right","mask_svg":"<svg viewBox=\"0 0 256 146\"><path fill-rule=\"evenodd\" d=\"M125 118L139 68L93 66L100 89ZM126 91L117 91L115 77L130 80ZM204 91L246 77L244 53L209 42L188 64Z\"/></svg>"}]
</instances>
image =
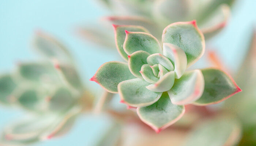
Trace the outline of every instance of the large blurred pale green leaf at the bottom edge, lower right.
<instances>
[{"instance_id":1,"label":"large blurred pale green leaf at the bottom edge, lower right","mask_svg":"<svg viewBox=\"0 0 256 146\"><path fill-rule=\"evenodd\" d=\"M200 122L182 146L234 146L240 136L240 124L234 118L223 116Z\"/></svg>"}]
</instances>

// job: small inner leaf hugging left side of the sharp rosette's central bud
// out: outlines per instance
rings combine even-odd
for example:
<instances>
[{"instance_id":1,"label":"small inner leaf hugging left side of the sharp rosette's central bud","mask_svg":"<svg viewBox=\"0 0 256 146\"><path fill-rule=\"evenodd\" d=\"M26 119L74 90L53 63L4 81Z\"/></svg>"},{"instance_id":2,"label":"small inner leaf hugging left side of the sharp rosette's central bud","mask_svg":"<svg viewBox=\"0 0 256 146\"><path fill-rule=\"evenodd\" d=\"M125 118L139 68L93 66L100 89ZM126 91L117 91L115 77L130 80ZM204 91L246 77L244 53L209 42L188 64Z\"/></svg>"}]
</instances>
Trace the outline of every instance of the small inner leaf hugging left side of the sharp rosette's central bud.
<instances>
[{"instance_id":1,"label":"small inner leaf hugging left side of the sharp rosette's central bud","mask_svg":"<svg viewBox=\"0 0 256 146\"><path fill-rule=\"evenodd\" d=\"M151 69L151 67L148 64L142 65L140 73L141 73L142 77L144 78L144 80L146 80L147 82L149 82L151 84L155 84L159 80L159 78L155 77L153 70Z\"/></svg>"}]
</instances>

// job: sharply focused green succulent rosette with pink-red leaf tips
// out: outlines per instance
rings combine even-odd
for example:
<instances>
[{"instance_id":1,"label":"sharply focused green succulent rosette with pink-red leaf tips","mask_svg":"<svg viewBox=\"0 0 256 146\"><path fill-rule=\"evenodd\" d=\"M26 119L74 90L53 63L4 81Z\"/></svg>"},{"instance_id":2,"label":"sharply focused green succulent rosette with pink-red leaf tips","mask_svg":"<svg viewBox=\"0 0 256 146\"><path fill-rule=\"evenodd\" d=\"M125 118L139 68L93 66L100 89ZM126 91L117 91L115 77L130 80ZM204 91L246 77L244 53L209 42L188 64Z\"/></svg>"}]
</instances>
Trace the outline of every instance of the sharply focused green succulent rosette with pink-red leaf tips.
<instances>
[{"instance_id":1,"label":"sharply focused green succulent rosette with pink-red leaf tips","mask_svg":"<svg viewBox=\"0 0 256 146\"><path fill-rule=\"evenodd\" d=\"M118 93L156 132L180 119L186 104L216 104L241 91L222 70L187 70L205 49L195 20L168 25L162 45L144 27L113 27L117 50L128 63L106 62L90 80Z\"/></svg>"}]
</instances>

